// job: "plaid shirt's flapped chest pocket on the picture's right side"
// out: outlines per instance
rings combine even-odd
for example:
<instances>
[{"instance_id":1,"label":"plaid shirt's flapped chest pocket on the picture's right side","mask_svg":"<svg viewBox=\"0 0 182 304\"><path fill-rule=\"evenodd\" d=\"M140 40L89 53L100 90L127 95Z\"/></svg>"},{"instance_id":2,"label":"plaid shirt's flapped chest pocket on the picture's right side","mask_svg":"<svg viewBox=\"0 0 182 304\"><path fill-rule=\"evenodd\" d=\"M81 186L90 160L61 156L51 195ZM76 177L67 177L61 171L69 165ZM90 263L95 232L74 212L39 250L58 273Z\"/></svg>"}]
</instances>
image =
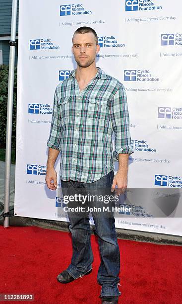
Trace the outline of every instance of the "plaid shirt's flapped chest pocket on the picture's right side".
<instances>
[{"instance_id":1,"label":"plaid shirt's flapped chest pocket on the picture's right side","mask_svg":"<svg viewBox=\"0 0 182 304\"><path fill-rule=\"evenodd\" d=\"M105 119L109 115L108 99L104 97L90 97L88 100L87 117Z\"/></svg>"}]
</instances>

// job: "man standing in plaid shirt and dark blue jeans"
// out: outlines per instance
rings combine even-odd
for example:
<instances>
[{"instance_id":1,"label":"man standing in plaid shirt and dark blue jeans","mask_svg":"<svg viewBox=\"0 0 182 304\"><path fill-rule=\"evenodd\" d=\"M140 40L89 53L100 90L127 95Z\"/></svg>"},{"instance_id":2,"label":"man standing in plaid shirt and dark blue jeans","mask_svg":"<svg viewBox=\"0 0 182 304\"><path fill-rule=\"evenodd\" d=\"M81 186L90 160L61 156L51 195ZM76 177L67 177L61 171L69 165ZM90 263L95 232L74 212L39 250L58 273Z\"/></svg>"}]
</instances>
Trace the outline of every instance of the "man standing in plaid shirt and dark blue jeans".
<instances>
[{"instance_id":1,"label":"man standing in plaid shirt and dark blue jeans","mask_svg":"<svg viewBox=\"0 0 182 304\"><path fill-rule=\"evenodd\" d=\"M96 67L100 50L96 32L90 27L78 28L72 38L72 52L77 63L68 79L55 91L51 124L46 183L57 189L55 161L61 152L61 188L67 193L101 190L104 193L123 193L127 187L130 145L129 116L123 85ZM112 152L112 134L115 133L115 151ZM113 162L119 161L114 175ZM115 187L118 187L115 189ZM88 206L93 206L87 202ZM82 205L82 204L80 204ZM103 207L103 202L96 202ZM112 204L110 204L112 206ZM83 206L83 205L82 205ZM86 214L86 216L85 216ZM92 271L93 252L90 244L88 213L68 211L72 234L71 264L58 275L58 281L69 283ZM121 295L120 251L113 212L109 217L92 213L98 234L101 264L97 280L102 286L102 303L118 303Z\"/></svg>"}]
</instances>

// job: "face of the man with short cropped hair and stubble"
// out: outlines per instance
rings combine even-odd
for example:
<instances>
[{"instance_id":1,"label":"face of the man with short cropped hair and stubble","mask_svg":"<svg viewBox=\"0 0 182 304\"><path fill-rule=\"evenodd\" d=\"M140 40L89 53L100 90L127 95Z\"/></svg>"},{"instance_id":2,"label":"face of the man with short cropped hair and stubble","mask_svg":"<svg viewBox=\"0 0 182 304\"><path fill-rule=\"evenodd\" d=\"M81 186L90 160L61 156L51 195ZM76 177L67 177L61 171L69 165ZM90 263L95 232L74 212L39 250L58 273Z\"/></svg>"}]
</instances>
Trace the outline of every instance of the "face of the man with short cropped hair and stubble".
<instances>
[{"instance_id":1,"label":"face of the man with short cropped hair and stubble","mask_svg":"<svg viewBox=\"0 0 182 304\"><path fill-rule=\"evenodd\" d=\"M91 33L74 34L72 52L77 65L87 68L95 61L100 46L96 45L95 36Z\"/></svg>"}]
</instances>

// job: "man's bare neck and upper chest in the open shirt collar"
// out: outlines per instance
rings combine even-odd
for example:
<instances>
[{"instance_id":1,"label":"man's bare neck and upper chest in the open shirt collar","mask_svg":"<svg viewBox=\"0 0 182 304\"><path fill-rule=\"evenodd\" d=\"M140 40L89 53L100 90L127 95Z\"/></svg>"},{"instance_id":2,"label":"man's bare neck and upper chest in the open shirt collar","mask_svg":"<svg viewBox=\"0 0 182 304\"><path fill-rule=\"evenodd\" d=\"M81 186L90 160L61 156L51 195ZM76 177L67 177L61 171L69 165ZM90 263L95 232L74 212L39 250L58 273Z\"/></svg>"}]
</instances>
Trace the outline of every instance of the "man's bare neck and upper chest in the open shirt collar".
<instances>
[{"instance_id":1,"label":"man's bare neck and upper chest in the open shirt collar","mask_svg":"<svg viewBox=\"0 0 182 304\"><path fill-rule=\"evenodd\" d=\"M93 79L98 72L96 66L89 66L87 68L81 68L77 66L75 78L78 82L89 82Z\"/></svg>"}]
</instances>

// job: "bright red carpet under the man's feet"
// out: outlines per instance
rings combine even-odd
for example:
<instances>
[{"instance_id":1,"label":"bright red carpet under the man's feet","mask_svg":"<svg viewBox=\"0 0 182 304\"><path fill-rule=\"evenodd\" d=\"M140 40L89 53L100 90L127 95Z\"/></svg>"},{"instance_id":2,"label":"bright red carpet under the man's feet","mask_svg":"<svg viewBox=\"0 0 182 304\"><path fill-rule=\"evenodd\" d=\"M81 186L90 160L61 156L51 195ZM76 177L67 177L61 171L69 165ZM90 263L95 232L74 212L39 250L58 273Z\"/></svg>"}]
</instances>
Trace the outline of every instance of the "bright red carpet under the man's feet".
<instances>
[{"instance_id":1,"label":"bright red carpet under the man's feet","mask_svg":"<svg viewBox=\"0 0 182 304\"><path fill-rule=\"evenodd\" d=\"M101 304L97 237L90 275L66 285L57 281L71 259L70 233L38 227L0 227L0 293L34 294L34 304ZM182 247L118 240L121 250L119 303L182 303Z\"/></svg>"}]
</instances>

